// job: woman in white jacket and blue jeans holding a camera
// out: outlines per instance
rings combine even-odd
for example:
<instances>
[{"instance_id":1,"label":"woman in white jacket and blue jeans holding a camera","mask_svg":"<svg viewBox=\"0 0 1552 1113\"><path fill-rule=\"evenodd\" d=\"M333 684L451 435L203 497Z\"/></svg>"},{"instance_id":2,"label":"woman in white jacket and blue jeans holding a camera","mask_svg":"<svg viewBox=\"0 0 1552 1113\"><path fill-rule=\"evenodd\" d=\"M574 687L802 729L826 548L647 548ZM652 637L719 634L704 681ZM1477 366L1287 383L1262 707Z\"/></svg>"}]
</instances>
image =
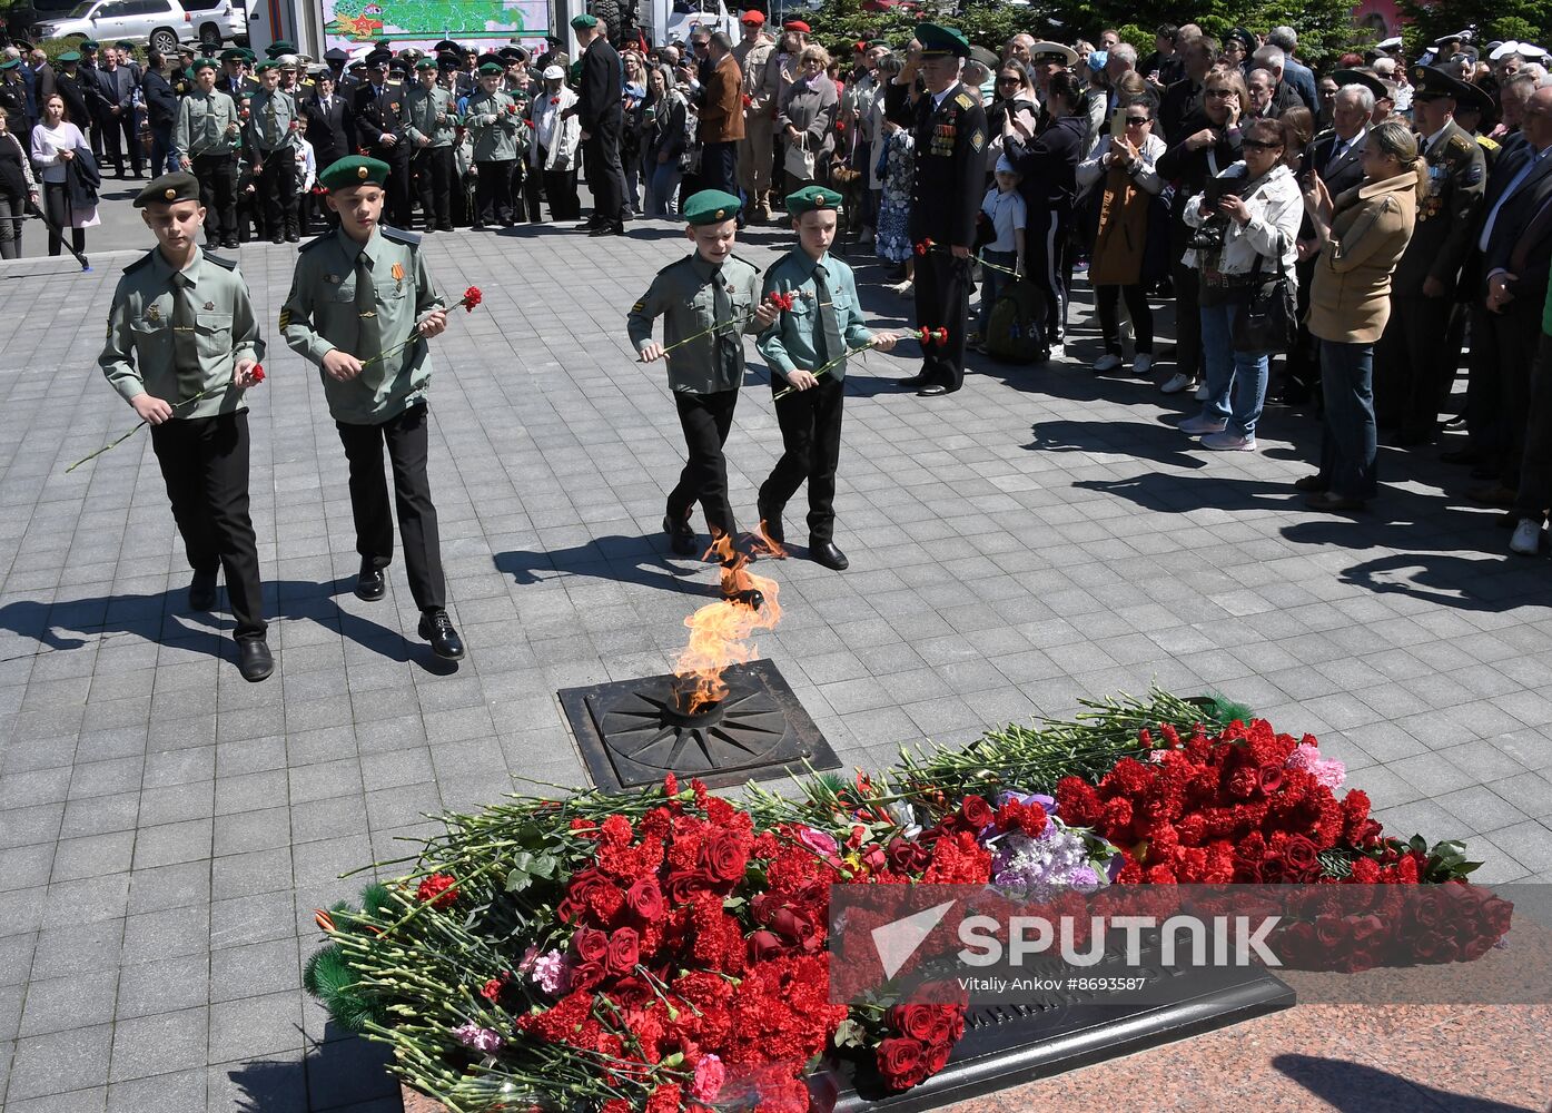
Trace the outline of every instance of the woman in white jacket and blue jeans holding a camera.
<instances>
[{"instance_id":1,"label":"woman in white jacket and blue jeans holding a camera","mask_svg":"<svg viewBox=\"0 0 1552 1113\"><path fill-rule=\"evenodd\" d=\"M1186 203L1195 230L1184 255L1201 278L1201 348L1207 365L1207 400L1197 418L1180 424L1201 436L1204 449L1256 452L1256 422L1266 400L1268 352L1238 351L1234 320L1279 265L1294 278L1304 197L1284 166L1285 126L1256 120L1243 130L1245 161L1221 171L1204 192ZM1257 267L1257 262L1260 264ZM1232 405L1231 405L1232 393Z\"/></svg>"}]
</instances>

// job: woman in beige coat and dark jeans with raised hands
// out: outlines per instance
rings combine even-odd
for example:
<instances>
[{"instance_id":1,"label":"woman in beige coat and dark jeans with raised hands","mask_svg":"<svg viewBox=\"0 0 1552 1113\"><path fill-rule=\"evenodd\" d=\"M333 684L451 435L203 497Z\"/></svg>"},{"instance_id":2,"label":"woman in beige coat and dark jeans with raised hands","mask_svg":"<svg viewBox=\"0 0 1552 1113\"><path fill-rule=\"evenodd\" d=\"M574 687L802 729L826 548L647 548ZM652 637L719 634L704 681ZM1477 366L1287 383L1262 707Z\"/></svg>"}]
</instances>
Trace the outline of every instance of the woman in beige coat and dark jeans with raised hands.
<instances>
[{"instance_id":1,"label":"woman in beige coat and dark jeans with raised hands","mask_svg":"<svg viewBox=\"0 0 1552 1113\"><path fill-rule=\"evenodd\" d=\"M1318 511L1361 511L1378 492L1374 343L1391 315L1391 272L1412 238L1426 169L1417 140L1397 121L1369 132L1363 183L1335 200L1311 175L1304 205L1321 258L1310 286L1310 334L1321 343L1325 436L1321 470L1294 487Z\"/></svg>"}]
</instances>

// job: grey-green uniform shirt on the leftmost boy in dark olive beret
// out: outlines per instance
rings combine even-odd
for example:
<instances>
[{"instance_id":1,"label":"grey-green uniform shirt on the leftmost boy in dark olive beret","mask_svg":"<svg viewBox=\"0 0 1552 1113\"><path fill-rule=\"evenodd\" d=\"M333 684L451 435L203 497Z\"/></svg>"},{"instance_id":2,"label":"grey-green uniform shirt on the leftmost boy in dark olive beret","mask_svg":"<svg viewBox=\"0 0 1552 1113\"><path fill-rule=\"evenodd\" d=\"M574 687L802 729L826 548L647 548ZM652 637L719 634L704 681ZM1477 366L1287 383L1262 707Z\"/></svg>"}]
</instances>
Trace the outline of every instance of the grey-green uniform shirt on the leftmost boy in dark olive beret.
<instances>
[{"instance_id":1,"label":"grey-green uniform shirt on the leftmost boy in dark olive beret","mask_svg":"<svg viewBox=\"0 0 1552 1113\"><path fill-rule=\"evenodd\" d=\"M194 250L194 261L183 269L191 281L188 326L174 321L174 273L161 248L124 267L98 366L126 402L151 394L177 405L227 383L225 391L177 410L177 418L245 410L242 391L230 385L231 373L239 359L262 360L264 340L237 264Z\"/></svg>"}]
</instances>

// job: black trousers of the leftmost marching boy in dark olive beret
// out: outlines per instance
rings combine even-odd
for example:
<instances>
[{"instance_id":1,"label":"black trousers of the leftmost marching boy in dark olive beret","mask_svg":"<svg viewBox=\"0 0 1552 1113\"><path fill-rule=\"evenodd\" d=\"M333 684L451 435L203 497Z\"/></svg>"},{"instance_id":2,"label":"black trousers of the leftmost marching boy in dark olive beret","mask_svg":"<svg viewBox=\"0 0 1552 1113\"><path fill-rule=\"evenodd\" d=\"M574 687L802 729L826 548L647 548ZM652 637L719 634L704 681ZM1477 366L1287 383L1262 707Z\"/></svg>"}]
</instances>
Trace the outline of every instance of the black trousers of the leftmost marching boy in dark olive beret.
<instances>
[{"instance_id":1,"label":"black trousers of the leftmost marching boy in dark olive beret","mask_svg":"<svg viewBox=\"0 0 1552 1113\"><path fill-rule=\"evenodd\" d=\"M151 447L168 484L189 567L227 571L236 638L262 638L259 550L248 517L248 414L174 418L151 427Z\"/></svg>"}]
</instances>

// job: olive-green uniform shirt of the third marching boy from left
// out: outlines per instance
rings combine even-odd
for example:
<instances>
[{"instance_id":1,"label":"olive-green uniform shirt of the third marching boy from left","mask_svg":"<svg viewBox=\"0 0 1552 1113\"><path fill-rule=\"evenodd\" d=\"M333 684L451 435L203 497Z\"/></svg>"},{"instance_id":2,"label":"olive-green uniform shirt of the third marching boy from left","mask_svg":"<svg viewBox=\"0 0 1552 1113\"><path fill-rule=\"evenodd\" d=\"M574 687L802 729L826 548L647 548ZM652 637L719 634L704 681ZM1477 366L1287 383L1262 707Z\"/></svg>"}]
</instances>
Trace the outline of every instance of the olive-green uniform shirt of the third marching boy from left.
<instances>
[{"instance_id":1,"label":"olive-green uniform shirt of the third marching boy from left","mask_svg":"<svg viewBox=\"0 0 1552 1113\"><path fill-rule=\"evenodd\" d=\"M652 321L663 318L663 346L712 328L719 320L743 318L742 326L691 340L667 354L669 387L686 394L715 394L743 383L745 332L759 332L760 270L739 256L728 256L720 267L700 258L700 251L670 262L652 279L641 300L630 307L627 332L639 352L652 343ZM717 286L726 295L731 317L717 315ZM733 337L734 343L722 343Z\"/></svg>"}]
</instances>

